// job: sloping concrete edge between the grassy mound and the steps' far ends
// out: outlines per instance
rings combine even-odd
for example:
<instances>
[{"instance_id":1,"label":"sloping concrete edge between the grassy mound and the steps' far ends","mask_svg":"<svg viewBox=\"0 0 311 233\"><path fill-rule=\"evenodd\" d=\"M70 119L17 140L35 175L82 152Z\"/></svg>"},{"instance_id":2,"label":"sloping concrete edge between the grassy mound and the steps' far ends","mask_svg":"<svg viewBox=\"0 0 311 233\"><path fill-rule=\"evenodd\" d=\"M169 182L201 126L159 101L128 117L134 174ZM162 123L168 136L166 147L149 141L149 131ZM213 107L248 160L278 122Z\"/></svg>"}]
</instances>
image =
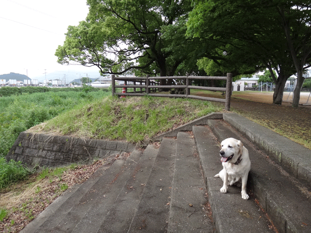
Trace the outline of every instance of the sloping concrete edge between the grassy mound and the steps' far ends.
<instances>
[{"instance_id":1,"label":"sloping concrete edge between the grassy mound and the steps' far ends","mask_svg":"<svg viewBox=\"0 0 311 233\"><path fill-rule=\"evenodd\" d=\"M172 131L155 136L151 139L151 141L160 141L164 137L177 137L177 133L179 131L192 131L193 125L207 125L208 119L223 119L223 114L222 113L210 113L207 116L202 116L185 125L179 126L176 129L173 129Z\"/></svg>"}]
</instances>

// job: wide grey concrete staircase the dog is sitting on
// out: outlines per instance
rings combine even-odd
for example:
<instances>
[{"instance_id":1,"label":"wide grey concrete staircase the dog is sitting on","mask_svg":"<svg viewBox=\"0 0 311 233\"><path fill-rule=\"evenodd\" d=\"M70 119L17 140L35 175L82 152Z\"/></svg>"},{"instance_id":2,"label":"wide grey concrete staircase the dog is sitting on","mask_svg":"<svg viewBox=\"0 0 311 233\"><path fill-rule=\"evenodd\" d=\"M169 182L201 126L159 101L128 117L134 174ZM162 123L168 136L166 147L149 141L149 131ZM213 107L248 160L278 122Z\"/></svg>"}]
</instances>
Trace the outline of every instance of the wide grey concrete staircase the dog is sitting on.
<instances>
[{"instance_id":1,"label":"wide grey concrete staircase the dog is sitting on","mask_svg":"<svg viewBox=\"0 0 311 233\"><path fill-rule=\"evenodd\" d=\"M271 161L224 120L193 124L98 169L21 233L307 233L310 187ZM247 193L220 193L219 142L242 140L252 163ZM273 225L273 224L274 225Z\"/></svg>"}]
</instances>

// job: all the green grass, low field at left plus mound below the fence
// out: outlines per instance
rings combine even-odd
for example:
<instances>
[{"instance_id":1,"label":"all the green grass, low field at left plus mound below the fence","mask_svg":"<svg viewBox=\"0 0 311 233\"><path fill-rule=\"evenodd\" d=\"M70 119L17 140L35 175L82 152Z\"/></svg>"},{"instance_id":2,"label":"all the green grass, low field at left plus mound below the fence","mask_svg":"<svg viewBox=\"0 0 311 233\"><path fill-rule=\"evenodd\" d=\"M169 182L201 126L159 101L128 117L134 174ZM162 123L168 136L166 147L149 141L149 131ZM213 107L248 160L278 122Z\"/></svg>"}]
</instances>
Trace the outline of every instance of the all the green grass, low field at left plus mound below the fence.
<instances>
[{"instance_id":1,"label":"all the green grass, low field at left plus mound below the fence","mask_svg":"<svg viewBox=\"0 0 311 233\"><path fill-rule=\"evenodd\" d=\"M20 162L7 163L4 159L19 133L31 127L30 132L34 133L137 143L219 111L222 107L208 101L113 98L111 92L88 87L80 92L22 93L0 97L0 189L31 174ZM52 175L61 174L63 170L52 172ZM43 170L38 179L52 176L50 173L49 169Z\"/></svg>"}]
</instances>

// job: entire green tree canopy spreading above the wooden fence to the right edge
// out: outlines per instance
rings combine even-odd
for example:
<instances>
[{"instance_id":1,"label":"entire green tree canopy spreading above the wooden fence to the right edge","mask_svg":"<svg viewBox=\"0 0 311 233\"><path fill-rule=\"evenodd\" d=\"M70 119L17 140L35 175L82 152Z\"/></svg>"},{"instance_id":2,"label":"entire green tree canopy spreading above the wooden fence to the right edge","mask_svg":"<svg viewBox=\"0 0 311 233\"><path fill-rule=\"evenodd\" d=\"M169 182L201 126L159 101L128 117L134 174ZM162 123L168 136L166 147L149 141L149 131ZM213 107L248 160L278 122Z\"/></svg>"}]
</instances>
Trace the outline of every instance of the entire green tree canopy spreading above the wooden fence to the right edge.
<instances>
[{"instance_id":1,"label":"entire green tree canopy spreading above the wooden fence to the right edge","mask_svg":"<svg viewBox=\"0 0 311 233\"><path fill-rule=\"evenodd\" d=\"M101 74L234 76L268 69L281 104L287 79L311 63L311 0L87 0L55 52L61 64ZM224 53L225 52L225 53ZM225 54L225 55L224 55ZM276 72L274 72L275 70ZM165 80L161 80L165 82ZM164 84L164 83L161 83Z\"/></svg>"}]
</instances>

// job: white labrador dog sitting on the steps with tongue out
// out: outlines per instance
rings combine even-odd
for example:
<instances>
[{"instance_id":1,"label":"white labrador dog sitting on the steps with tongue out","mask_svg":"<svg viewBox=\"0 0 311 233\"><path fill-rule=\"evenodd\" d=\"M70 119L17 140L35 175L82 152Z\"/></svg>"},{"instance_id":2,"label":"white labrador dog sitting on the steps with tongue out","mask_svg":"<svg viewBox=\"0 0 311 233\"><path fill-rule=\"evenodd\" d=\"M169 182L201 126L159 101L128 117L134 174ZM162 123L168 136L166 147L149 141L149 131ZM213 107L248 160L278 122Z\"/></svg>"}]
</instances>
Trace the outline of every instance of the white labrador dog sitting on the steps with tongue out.
<instances>
[{"instance_id":1,"label":"white labrador dog sitting on the steps with tongue out","mask_svg":"<svg viewBox=\"0 0 311 233\"><path fill-rule=\"evenodd\" d=\"M242 180L242 199L248 200L249 196L246 193L246 183L248 172L251 169L251 161L248 157L248 150L243 146L242 142L227 138L221 143L220 150L221 161L224 169L221 170L215 177L220 177L224 181L221 193L226 193L228 184L232 185Z\"/></svg>"}]
</instances>

